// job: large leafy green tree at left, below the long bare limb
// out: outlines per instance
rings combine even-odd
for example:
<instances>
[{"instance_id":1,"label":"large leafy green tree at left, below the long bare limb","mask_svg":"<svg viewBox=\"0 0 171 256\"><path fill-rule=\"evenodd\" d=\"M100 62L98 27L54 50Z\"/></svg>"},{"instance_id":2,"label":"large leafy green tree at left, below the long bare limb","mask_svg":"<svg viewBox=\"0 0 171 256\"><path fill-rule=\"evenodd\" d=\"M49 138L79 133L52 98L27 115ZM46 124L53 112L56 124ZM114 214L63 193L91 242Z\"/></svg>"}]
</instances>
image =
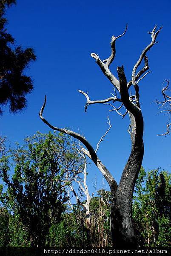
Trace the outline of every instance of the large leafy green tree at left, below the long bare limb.
<instances>
[{"instance_id":1,"label":"large leafy green tree at left, below the long bare limb","mask_svg":"<svg viewBox=\"0 0 171 256\"><path fill-rule=\"evenodd\" d=\"M68 137L51 132L37 132L26 138L23 147L17 145L1 158L0 174L6 190L1 186L0 199L12 214L11 246L46 244L51 225L59 223L65 210L66 184L62 180L66 170L78 170L79 166L77 151ZM14 170L12 176L9 170Z\"/></svg>"}]
</instances>

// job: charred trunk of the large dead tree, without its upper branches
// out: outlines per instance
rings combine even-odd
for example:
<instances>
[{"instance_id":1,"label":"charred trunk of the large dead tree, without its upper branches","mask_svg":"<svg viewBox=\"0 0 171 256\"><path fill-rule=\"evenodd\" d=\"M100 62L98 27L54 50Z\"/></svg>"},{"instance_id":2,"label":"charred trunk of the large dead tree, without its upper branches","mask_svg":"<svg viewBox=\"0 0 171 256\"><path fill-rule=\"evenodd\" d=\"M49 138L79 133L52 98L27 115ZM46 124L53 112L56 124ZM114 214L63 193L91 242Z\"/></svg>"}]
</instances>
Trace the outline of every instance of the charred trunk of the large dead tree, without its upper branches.
<instances>
[{"instance_id":1,"label":"charred trunk of the large dead tree, without its upper branches","mask_svg":"<svg viewBox=\"0 0 171 256\"><path fill-rule=\"evenodd\" d=\"M112 197L115 198L111 202L112 241L114 247L122 248L137 246L132 221L132 200L144 154L142 115L136 119L131 113L129 115L131 119L131 154L123 170L115 197L111 191Z\"/></svg>"}]
</instances>

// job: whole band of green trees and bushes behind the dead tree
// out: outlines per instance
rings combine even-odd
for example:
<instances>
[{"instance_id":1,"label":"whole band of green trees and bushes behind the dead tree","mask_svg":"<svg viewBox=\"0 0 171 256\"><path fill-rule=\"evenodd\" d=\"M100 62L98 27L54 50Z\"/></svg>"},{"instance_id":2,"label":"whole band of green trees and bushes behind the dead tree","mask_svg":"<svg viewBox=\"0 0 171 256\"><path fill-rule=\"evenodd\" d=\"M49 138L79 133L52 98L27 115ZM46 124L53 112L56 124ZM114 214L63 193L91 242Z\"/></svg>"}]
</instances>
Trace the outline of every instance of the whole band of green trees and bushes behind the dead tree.
<instances>
[{"instance_id":1,"label":"whole band of green trees and bushes behind the dead tree","mask_svg":"<svg viewBox=\"0 0 171 256\"><path fill-rule=\"evenodd\" d=\"M111 246L110 192L100 189L91 198L90 230L83 206L66 207L66 187L83 167L64 134L37 132L22 147L17 144L3 154L0 176L6 186L0 185L0 246ZM132 215L141 246L170 246L170 177L159 169L147 174L140 170Z\"/></svg>"}]
</instances>

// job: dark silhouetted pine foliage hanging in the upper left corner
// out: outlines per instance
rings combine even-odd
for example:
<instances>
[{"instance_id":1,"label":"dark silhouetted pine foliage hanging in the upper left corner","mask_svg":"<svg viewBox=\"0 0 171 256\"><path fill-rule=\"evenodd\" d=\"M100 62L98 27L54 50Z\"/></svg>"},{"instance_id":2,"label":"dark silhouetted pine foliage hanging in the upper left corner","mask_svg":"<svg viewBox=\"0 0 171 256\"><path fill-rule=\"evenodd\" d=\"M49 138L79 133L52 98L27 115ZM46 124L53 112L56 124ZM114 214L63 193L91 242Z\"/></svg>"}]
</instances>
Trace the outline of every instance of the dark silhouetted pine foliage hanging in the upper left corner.
<instances>
[{"instance_id":1,"label":"dark silhouetted pine foliage hanging in the upper left corner","mask_svg":"<svg viewBox=\"0 0 171 256\"><path fill-rule=\"evenodd\" d=\"M14 38L6 29L6 7L15 0L0 0L0 114L9 104L9 112L16 113L26 107L26 95L33 90L33 81L24 71L36 60L32 48L15 46Z\"/></svg>"}]
</instances>

